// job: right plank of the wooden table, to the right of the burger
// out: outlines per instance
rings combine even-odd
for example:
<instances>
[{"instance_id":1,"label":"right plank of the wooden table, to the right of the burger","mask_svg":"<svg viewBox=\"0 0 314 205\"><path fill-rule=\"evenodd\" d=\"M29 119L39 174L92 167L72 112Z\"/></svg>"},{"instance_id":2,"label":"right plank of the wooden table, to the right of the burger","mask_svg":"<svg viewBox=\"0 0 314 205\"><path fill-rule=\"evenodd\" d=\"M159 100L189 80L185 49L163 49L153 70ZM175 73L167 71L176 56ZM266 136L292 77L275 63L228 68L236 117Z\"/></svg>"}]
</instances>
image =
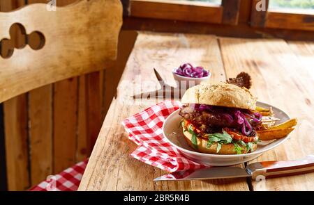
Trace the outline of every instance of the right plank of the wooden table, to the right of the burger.
<instances>
[{"instance_id":1,"label":"right plank of the wooden table, to the right of the burger","mask_svg":"<svg viewBox=\"0 0 314 205\"><path fill-rule=\"evenodd\" d=\"M255 161L293 160L314 153L313 49L291 47L283 40L220 39L227 76L248 72L253 78L251 90L260 101L299 119L289 140ZM314 173L253 181L253 189L314 190Z\"/></svg>"}]
</instances>

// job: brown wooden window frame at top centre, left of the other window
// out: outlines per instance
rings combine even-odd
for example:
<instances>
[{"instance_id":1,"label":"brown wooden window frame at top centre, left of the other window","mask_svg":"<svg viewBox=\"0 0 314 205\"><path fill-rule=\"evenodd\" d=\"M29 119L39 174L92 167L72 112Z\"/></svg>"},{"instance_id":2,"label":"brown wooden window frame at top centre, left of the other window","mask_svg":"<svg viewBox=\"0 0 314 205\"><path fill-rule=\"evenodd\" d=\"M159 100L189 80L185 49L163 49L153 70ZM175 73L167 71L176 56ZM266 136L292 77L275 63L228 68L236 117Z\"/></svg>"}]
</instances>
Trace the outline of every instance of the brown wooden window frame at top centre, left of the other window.
<instances>
[{"instance_id":1,"label":"brown wooden window frame at top centre, left of the other window","mask_svg":"<svg viewBox=\"0 0 314 205\"><path fill-rule=\"evenodd\" d=\"M128 16L236 25L239 19L240 1L222 0L221 5L215 5L195 1L130 0Z\"/></svg>"}]
</instances>

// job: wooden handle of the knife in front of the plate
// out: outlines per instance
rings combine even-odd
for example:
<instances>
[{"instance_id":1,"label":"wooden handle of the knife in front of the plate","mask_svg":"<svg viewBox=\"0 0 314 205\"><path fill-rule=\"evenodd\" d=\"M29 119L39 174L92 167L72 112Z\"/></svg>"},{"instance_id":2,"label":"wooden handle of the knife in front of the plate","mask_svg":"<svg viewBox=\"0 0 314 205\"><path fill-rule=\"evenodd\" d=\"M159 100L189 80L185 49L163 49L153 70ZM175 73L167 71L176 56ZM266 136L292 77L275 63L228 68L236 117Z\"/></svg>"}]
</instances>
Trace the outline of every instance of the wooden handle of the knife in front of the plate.
<instances>
[{"instance_id":1,"label":"wooden handle of the knife in front of the plate","mask_svg":"<svg viewBox=\"0 0 314 205\"><path fill-rule=\"evenodd\" d=\"M254 180L261 175L265 178L272 178L314 172L314 156L308 155L306 158L295 161L252 163L246 167L246 172L251 174Z\"/></svg>"}]
</instances>

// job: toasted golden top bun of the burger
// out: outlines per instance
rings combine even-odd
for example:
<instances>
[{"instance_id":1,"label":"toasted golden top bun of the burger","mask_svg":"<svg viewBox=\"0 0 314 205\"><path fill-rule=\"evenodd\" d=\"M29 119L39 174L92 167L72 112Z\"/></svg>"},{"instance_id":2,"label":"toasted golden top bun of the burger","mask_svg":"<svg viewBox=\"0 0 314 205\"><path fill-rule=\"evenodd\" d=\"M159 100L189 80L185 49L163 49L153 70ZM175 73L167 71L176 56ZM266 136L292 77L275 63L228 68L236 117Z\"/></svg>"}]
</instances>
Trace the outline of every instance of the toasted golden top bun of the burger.
<instances>
[{"instance_id":1,"label":"toasted golden top bun of the burger","mask_svg":"<svg viewBox=\"0 0 314 205\"><path fill-rule=\"evenodd\" d=\"M255 110L256 100L244 87L229 83L204 83L186 90L181 102Z\"/></svg>"}]
</instances>

